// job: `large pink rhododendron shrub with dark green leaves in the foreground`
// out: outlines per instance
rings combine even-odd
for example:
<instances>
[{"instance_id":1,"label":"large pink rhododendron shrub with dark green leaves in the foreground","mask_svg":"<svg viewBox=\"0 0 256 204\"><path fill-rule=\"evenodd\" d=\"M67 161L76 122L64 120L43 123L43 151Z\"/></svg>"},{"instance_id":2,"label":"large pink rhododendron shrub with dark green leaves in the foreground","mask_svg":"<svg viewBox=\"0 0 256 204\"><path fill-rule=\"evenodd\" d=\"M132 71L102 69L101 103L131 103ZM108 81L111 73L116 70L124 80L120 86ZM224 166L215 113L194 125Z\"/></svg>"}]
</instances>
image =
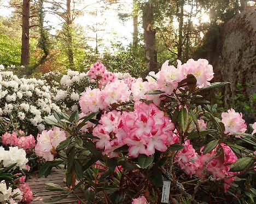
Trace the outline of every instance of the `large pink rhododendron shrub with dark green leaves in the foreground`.
<instances>
[{"instance_id":1,"label":"large pink rhododendron shrub with dark green leaves in the foreground","mask_svg":"<svg viewBox=\"0 0 256 204\"><path fill-rule=\"evenodd\" d=\"M81 187L87 203L161 203L164 180L173 203L236 200L236 182L254 172L256 140L241 113L220 113L202 97L228 86L210 83L213 74L206 59L166 61L146 80L93 64L98 86L84 88L81 111L55 112L47 122L56 128L38 136L39 177L63 164L67 188L48 185L65 196Z\"/></svg>"}]
</instances>

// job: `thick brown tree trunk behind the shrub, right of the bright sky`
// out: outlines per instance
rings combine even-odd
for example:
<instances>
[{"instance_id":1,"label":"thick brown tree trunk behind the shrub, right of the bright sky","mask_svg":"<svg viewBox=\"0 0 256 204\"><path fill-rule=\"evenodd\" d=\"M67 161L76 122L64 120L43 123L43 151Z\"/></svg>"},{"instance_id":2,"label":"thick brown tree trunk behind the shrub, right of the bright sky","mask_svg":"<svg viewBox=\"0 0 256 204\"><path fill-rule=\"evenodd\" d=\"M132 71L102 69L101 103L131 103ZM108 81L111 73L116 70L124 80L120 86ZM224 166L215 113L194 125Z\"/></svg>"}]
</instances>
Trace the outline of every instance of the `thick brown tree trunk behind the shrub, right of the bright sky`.
<instances>
[{"instance_id":1,"label":"thick brown tree trunk behind the shrub, right of the bright sky","mask_svg":"<svg viewBox=\"0 0 256 204\"><path fill-rule=\"evenodd\" d=\"M154 29L154 10L153 4L145 3L143 8L143 29L144 43L146 48L146 61L148 71L158 71L158 58L156 53L156 31Z\"/></svg>"}]
</instances>

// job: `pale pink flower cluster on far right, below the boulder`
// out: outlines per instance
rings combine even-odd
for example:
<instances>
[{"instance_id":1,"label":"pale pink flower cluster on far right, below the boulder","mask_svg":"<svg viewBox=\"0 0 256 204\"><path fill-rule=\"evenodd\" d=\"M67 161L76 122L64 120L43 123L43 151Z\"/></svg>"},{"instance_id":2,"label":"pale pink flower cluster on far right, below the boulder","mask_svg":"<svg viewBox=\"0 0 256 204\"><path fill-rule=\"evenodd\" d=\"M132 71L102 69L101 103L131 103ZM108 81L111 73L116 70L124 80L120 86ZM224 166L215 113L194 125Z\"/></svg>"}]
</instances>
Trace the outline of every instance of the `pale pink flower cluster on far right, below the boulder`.
<instances>
[{"instance_id":1,"label":"pale pink flower cluster on far right, below the boulder","mask_svg":"<svg viewBox=\"0 0 256 204\"><path fill-rule=\"evenodd\" d=\"M222 113L222 123L225 125L225 134L245 133L246 122L242 118L242 113L235 112L234 109Z\"/></svg>"}]
</instances>

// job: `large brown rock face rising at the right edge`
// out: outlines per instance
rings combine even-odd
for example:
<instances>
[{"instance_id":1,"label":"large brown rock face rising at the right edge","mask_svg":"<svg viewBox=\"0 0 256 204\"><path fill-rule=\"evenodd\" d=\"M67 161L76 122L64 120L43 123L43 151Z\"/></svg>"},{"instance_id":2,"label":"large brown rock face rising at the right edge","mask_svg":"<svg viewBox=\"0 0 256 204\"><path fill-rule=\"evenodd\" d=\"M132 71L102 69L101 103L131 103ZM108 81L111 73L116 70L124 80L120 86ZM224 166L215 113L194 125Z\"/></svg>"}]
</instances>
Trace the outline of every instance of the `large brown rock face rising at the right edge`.
<instances>
[{"instance_id":1,"label":"large brown rock face rising at the right edge","mask_svg":"<svg viewBox=\"0 0 256 204\"><path fill-rule=\"evenodd\" d=\"M210 63L216 73L214 81L231 82L224 88L224 102L229 106L238 82L253 85L243 89L247 97L256 92L256 9L245 10L229 20L216 47ZM247 117L250 121L253 118L255 114Z\"/></svg>"}]
</instances>

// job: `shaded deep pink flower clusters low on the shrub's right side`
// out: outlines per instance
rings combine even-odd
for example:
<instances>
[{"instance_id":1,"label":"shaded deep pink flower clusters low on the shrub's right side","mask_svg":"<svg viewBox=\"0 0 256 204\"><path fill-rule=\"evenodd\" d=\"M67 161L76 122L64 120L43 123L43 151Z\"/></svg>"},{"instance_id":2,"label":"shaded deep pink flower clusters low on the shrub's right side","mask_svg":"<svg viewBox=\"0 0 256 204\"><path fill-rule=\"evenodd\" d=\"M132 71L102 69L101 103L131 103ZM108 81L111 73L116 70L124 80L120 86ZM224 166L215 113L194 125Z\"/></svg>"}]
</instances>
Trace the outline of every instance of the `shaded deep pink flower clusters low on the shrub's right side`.
<instances>
[{"instance_id":1,"label":"shaded deep pink flower clusters low on the shrub's right side","mask_svg":"<svg viewBox=\"0 0 256 204\"><path fill-rule=\"evenodd\" d=\"M195 152L195 149L190 145L190 141L187 140L184 143L185 148L178 151L176 154L176 163L184 170L188 175L197 175L202 177L203 165L210 161L211 158L216 154L217 147L213 149L210 153L203 154L201 147L201 155L198 155ZM224 160L220 158L215 158L211 160L206 165L206 171L212 175L214 178L223 178L224 176L230 176L235 172L229 172L230 165L237 160L237 157L234 152L230 149L229 146L226 146L224 143L221 144L224 151ZM224 190L226 191L235 177L225 178L224 179Z\"/></svg>"}]
</instances>

